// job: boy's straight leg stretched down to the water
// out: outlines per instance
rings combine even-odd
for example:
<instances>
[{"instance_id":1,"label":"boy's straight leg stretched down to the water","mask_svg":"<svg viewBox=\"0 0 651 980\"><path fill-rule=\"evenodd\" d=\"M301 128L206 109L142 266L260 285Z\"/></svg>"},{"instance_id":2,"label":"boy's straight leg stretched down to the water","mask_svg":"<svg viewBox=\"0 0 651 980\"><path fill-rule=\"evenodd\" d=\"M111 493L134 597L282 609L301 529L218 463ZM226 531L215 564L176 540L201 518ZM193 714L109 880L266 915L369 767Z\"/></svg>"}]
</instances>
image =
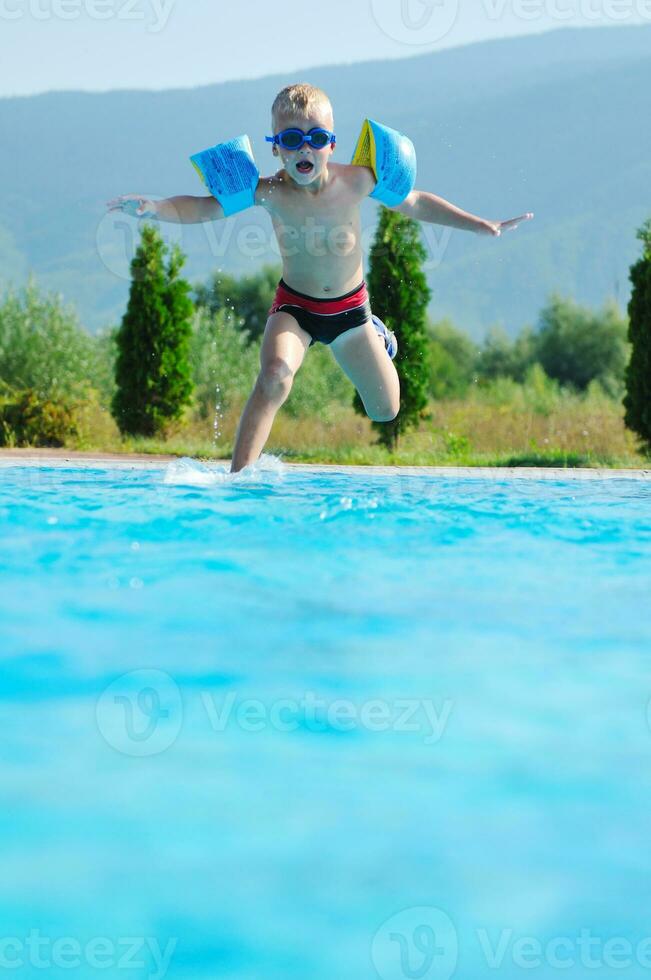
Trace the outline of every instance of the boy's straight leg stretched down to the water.
<instances>
[{"instance_id":1,"label":"boy's straight leg stretched down to the water","mask_svg":"<svg viewBox=\"0 0 651 980\"><path fill-rule=\"evenodd\" d=\"M272 313L262 338L260 373L237 427L231 473L259 457L309 345L309 333L293 316Z\"/></svg>"}]
</instances>

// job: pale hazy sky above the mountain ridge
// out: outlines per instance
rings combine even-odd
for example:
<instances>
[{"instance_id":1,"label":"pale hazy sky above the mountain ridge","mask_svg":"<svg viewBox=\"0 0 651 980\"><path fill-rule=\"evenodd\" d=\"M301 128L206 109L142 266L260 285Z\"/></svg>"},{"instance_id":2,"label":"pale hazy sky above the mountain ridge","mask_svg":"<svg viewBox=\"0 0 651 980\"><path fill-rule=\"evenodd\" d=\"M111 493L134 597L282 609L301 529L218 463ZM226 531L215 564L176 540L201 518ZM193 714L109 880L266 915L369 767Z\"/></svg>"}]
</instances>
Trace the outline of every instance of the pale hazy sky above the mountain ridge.
<instances>
[{"instance_id":1,"label":"pale hazy sky above the mountain ridge","mask_svg":"<svg viewBox=\"0 0 651 980\"><path fill-rule=\"evenodd\" d=\"M185 88L645 22L651 0L0 0L0 96Z\"/></svg>"}]
</instances>

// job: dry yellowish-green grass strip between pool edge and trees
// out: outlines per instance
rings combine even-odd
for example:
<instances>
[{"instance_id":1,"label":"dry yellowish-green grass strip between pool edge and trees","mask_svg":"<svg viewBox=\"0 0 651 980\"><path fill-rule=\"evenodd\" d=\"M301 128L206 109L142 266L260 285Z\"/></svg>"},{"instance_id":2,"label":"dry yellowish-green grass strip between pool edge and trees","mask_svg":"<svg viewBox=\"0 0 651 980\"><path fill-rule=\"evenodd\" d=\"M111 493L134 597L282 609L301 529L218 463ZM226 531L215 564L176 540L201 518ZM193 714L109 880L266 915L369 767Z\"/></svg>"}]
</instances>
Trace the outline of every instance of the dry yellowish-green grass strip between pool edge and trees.
<instances>
[{"instance_id":1,"label":"dry yellowish-green grass strip between pool edge and trees","mask_svg":"<svg viewBox=\"0 0 651 980\"><path fill-rule=\"evenodd\" d=\"M377 444L370 421L349 403L331 402L311 414L283 407L265 451L288 462L361 466L651 466L624 425L620 402L597 389L535 394L502 384L431 402L427 417L401 437L395 452ZM167 437L122 439L106 406L93 398L80 410L79 435L66 447L229 459L242 404L233 399L225 407L217 438L210 416L188 412Z\"/></svg>"}]
</instances>

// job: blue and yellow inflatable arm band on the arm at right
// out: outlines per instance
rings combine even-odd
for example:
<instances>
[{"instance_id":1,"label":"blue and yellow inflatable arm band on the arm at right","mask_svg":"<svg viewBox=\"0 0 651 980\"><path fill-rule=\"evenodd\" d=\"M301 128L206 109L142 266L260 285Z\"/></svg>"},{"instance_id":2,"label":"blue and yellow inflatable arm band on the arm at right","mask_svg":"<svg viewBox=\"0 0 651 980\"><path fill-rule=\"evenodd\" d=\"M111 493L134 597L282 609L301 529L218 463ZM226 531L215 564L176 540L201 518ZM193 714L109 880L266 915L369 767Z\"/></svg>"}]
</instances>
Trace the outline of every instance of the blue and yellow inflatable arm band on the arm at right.
<instances>
[{"instance_id":1,"label":"blue and yellow inflatable arm band on the arm at right","mask_svg":"<svg viewBox=\"0 0 651 980\"><path fill-rule=\"evenodd\" d=\"M400 204L416 183L416 150L408 136L367 119L352 163L370 167L377 184L369 195L389 207Z\"/></svg>"}]
</instances>

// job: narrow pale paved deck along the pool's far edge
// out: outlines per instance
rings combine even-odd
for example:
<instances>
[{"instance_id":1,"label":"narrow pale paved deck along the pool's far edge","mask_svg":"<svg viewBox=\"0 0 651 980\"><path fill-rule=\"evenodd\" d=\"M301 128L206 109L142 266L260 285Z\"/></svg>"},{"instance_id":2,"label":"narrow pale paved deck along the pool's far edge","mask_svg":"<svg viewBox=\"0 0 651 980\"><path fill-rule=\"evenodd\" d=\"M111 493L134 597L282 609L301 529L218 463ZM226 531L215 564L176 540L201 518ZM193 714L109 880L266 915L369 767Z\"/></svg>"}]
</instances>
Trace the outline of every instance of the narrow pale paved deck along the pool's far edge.
<instances>
[{"instance_id":1,"label":"narrow pale paved deck along the pool's far edge","mask_svg":"<svg viewBox=\"0 0 651 980\"><path fill-rule=\"evenodd\" d=\"M12 466L70 467L80 469L163 469L179 456L137 453L84 453L52 449L1 449L0 469ZM211 460L206 466L226 466L230 460ZM606 467L562 466L344 466L337 463L289 463L283 465L306 473L366 473L374 476L463 476L483 479L513 477L519 480L651 480L651 469L609 469Z\"/></svg>"}]
</instances>

